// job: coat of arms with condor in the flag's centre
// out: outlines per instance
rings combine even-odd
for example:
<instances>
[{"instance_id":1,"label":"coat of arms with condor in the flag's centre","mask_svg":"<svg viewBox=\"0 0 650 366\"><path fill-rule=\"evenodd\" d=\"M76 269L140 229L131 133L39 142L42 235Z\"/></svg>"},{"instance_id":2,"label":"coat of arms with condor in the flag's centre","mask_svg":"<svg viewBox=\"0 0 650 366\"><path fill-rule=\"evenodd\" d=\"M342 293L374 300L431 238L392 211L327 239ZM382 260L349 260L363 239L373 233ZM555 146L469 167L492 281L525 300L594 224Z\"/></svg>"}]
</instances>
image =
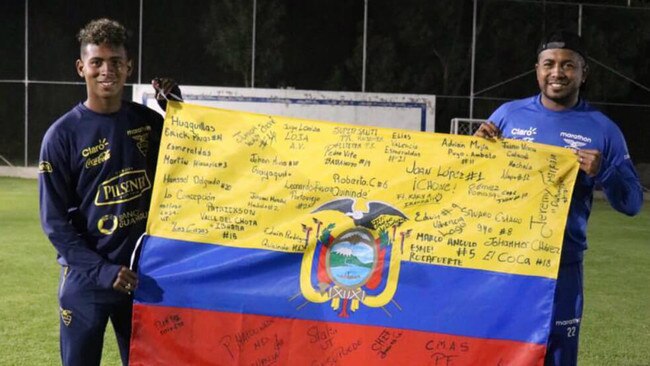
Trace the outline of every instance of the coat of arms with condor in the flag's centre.
<instances>
[{"instance_id":1,"label":"coat of arms with condor in the flag's centre","mask_svg":"<svg viewBox=\"0 0 650 366\"><path fill-rule=\"evenodd\" d=\"M300 290L310 302L329 301L343 318L358 310L360 304L381 307L390 316L388 303L400 309L393 295L408 232L399 232L399 245L395 239L408 218L384 202L368 202L366 211L356 210L355 204L352 198L326 202L312 211L313 226L303 225L307 248ZM318 217L325 211L340 212L348 220L323 222ZM313 231L315 236L310 240Z\"/></svg>"}]
</instances>

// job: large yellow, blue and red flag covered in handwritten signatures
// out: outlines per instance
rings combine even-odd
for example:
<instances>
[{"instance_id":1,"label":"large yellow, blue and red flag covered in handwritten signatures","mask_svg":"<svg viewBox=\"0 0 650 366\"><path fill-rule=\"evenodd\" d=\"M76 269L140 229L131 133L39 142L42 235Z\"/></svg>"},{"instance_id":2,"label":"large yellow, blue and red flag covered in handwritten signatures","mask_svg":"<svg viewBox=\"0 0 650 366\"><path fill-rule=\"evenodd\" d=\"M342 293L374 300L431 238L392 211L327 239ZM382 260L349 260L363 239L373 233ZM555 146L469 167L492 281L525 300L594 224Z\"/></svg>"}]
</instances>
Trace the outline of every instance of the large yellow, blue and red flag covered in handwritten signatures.
<instances>
[{"instance_id":1,"label":"large yellow, blue and red flag covered in handwritten signatures","mask_svg":"<svg viewBox=\"0 0 650 366\"><path fill-rule=\"evenodd\" d=\"M176 102L164 130L132 365L543 364L570 150Z\"/></svg>"}]
</instances>

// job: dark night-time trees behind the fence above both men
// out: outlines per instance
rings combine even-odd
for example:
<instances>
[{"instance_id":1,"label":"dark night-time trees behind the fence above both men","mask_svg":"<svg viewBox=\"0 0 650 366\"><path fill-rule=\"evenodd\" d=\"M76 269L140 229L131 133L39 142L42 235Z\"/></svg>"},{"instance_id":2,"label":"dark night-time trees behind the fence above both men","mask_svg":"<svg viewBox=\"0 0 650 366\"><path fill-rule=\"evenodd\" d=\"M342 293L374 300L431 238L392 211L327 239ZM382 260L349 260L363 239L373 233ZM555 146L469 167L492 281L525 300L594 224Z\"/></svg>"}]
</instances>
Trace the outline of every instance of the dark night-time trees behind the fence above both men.
<instances>
[{"instance_id":1,"label":"dark night-time trees behind the fence above both men","mask_svg":"<svg viewBox=\"0 0 650 366\"><path fill-rule=\"evenodd\" d=\"M111 17L134 36L129 82L171 76L185 85L249 87L256 3L255 87L361 91L364 0L30 0L0 2L0 155L29 160L45 129L84 97L75 34ZM473 0L367 0L367 92L433 94L437 131L469 115ZM477 2L473 114L538 92L535 50L544 32L580 30L590 66L584 95L612 117L636 161L650 161L650 0ZM628 7L628 4L630 7ZM142 44L141 54L137 49ZM140 66L142 73L140 74ZM8 81L7 81L8 80ZM45 82L45 83L42 83ZM49 86L48 83L52 86ZM127 95L128 97L128 91Z\"/></svg>"}]
</instances>

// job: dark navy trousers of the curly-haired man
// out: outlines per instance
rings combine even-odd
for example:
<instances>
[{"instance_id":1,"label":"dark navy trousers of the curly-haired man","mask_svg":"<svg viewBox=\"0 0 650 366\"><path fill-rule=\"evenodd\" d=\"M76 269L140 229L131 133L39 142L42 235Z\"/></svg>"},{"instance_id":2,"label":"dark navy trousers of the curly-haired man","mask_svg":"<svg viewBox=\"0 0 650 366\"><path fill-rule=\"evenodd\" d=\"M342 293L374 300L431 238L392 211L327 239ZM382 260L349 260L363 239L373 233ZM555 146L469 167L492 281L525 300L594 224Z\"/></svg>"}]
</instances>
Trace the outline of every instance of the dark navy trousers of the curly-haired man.
<instances>
[{"instance_id":1,"label":"dark navy trousers of the curly-haired man","mask_svg":"<svg viewBox=\"0 0 650 366\"><path fill-rule=\"evenodd\" d=\"M99 366L104 332L111 320L122 363L129 363L131 296L92 284L64 266L59 280L61 361L64 366Z\"/></svg>"}]
</instances>

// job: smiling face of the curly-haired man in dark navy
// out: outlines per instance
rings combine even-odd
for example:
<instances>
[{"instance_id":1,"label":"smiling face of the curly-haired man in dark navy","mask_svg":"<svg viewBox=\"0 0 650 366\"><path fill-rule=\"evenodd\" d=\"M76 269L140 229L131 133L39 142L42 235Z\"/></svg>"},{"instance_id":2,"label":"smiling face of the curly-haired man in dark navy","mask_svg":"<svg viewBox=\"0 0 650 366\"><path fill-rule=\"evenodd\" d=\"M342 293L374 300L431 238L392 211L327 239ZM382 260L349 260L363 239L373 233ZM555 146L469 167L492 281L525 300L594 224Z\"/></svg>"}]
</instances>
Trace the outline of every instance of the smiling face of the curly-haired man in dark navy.
<instances>
[{"instance_id":1,"label":"smiling face of the curly-haired man in dark navy","mask_svg":"<svg viewBox=\"0 0 650 366\"><path fill-rule=\"evenodd\" d=\"M82 47L76 65L77 73L86 80L86 106L99 113L119 110L126 78L132 71L126 49L89 43Z\"/></svg>"}]
</instances>

